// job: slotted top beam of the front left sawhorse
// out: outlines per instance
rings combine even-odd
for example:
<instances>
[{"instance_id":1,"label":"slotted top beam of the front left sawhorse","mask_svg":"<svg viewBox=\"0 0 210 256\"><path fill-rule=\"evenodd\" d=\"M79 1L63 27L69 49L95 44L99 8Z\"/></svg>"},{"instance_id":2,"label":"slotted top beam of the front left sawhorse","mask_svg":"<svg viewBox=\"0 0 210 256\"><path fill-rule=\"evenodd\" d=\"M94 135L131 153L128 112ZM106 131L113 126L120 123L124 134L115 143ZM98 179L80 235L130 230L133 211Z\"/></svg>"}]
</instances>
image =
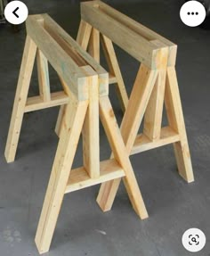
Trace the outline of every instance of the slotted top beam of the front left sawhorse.
<instances>
[{"instance_id":1,"label":"slotted top beam of the front left sawhorse","mask_svg":"<svg viewBox=\"0 0 210 256\"><path fill-rule=\"evenodd\" d=\"M56 72L78 100L86 100L85 72L81 67L90 65L100 77L100 95L109 94L105 83L107 71L90 57L72 37L54 22L49 15L30 15L26 22L28 36L36 43ZM70 58L69 58L70 56ZM68 89L68 88L67 88Z\"/></svg>"}]
</instances>

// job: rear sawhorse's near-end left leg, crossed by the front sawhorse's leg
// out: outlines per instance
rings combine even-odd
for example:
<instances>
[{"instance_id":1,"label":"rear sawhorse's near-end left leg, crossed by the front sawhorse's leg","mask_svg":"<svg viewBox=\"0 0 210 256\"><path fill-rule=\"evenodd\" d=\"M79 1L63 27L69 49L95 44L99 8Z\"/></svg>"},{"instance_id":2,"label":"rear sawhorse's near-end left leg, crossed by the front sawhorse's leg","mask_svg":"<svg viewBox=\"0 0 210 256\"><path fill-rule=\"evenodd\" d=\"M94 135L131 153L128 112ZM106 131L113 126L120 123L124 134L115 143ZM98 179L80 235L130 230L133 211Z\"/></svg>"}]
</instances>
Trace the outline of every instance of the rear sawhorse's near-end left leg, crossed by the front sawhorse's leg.
<instances>
[{"instance_id":1,"label":"rear sawhorse's near-end left leg, crossed by the front sawhorse's leg","mask_svg":"<svg viewBox=\"0 0 210 256\"><path fill-rule=\"evenodd\" d=\"M157 76L157 70L149 70L145 65L141 64L121 124L121 134L128 154L130 154L133 149L133 144ZM118 186L118 179L105 182L101 185L98 198L100 204L106 206L106 211L111 209Z\"/></svg>"}]
</instances>

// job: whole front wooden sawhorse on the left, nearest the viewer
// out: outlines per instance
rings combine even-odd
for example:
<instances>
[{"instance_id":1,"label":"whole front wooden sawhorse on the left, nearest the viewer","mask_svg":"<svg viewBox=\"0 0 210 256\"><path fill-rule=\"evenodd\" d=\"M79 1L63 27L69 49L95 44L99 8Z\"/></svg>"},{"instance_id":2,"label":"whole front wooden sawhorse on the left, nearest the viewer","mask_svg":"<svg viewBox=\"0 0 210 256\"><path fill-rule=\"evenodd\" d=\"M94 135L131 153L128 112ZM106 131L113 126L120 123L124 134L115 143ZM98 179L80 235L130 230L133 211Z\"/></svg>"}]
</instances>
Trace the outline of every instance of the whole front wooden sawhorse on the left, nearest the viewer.
<instances>
[{"instance_id":1,"label":"whole front wooden sawhorse on the left, nearest the viewer","mask_svg":"<svg viewBox=\"0 0 210 256\"><path fill-rule=\"evenodd\" d=\"M26 25L28 36L5 150L6 160L14 160L24 112L66 104L58 122L59 145L36 231L37 249L44 253L49 251L63 196L69 192L124 178L134 211L141 219L147 218L148 213L109 102L109 74L48 15L28 16ZM27 100L36 51L40 95ZM56 95L50 94L47 62L57 71L64 89ZM100 161L99 117L113 152L113 158L107 161ZM84 166L71 169L81 132Z\"/></svg>"}]
</instances>

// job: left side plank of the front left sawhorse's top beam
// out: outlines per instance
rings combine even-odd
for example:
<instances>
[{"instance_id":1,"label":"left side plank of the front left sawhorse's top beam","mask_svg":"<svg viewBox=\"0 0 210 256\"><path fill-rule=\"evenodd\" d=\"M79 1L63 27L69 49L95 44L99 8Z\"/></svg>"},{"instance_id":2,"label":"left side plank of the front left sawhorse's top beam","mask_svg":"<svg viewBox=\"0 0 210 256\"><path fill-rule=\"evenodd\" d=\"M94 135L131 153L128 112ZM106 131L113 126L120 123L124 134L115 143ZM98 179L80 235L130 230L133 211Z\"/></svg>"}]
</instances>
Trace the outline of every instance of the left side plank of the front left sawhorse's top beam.
<instances>
[{"instance_id":1,"label":"left side plank of the front left sawhorse's top beam","mask_svg":"<svg viewBox=\"0 0 210 256\"><path fill-rule=\"evenodd\" d=\"M71 93L75 94L80 101L87 99L85 76L77 64L69 58L69 54L49 35L43 25L36 21L33 15L28 16L26 26L28 36L34 40L53 69L65 80Z\"/></svg>"}]
</instances>

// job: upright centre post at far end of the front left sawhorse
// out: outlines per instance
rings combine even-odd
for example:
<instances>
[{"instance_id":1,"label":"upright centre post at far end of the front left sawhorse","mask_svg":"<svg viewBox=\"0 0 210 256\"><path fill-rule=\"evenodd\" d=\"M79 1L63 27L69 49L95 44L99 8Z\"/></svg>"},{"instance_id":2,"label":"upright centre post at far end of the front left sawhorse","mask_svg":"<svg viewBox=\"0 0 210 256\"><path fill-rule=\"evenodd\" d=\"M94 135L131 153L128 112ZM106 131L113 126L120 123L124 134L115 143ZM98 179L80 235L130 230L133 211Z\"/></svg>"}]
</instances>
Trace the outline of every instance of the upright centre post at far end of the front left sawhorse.
<instances>
[{"instance_id":1,"label":"upright centre post at far end of the front left sawhorse","mask_svg":"<svg viewBox=\"0 0 210 256\"><path fill-rule=\"evenodd\" d=\"M49 102L51 100L51 89L48 62L39 49L37 50L37 72L40 96L44 102Z\"/></svg>"}]
</instances>

